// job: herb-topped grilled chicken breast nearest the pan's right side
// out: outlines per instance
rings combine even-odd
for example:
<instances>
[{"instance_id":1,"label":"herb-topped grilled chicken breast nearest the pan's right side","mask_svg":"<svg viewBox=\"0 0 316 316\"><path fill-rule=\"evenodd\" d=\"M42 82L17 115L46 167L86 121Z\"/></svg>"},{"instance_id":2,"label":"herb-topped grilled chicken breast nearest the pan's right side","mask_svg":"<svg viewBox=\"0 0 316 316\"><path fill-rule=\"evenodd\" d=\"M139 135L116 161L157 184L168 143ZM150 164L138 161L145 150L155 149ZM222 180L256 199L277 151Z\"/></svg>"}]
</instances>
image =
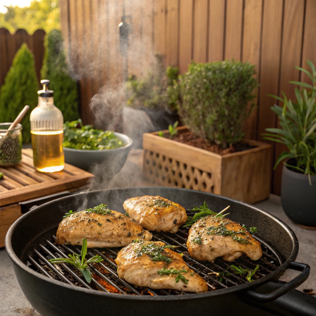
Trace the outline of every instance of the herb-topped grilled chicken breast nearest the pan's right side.
<instances>
[{"instance_id":1,"label":"herb-topped grilled chicken breast nearest the pan's right side","mask_svg":"<svg viewBox=\"0 0 316 316\"><path fill-rule=\"evenodd\" d=\"M261 244L238 223L222 216L209 215L192 225L186 242L192 258L232 261L246 254L251 260L262 256Z\"/></svg>"}]
</instances>

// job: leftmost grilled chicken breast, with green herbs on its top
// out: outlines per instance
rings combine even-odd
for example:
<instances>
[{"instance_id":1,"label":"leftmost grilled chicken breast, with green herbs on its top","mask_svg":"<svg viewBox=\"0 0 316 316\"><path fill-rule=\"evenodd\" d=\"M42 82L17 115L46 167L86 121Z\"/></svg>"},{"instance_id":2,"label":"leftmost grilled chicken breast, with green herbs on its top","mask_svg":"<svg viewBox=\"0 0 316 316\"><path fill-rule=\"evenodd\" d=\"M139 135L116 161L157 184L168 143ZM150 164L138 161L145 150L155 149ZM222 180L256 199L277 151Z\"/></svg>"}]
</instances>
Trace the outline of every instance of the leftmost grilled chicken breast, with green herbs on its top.
<instances>
[{"instance_id":1,"label":"leftmost grilled chicken breast, with green herbs on its top","mask_svg":"<svg viewBox=\"0 0 316 316\"><path fill-rule=\"evenodd\" d=\"M82 246L86 238L88 247L122 247L137 238L151 240L152 234L127 216L101 204L69 214L59 224L56 237L59 245Z\"/></svg>"}]
</instances>

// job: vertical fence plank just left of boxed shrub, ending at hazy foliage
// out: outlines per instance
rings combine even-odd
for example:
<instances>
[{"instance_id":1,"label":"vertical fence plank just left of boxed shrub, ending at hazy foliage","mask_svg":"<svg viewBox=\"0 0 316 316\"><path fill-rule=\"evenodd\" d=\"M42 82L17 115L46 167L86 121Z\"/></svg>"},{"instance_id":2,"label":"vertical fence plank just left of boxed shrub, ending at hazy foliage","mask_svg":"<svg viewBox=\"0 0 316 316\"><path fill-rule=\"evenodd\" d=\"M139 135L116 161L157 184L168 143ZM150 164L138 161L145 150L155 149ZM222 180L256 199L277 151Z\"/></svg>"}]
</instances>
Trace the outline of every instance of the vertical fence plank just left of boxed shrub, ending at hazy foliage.
<instances>
[{"instance_id":1,"label":"vertical fence plank just left of boxed shrub, ending at hazy foliage","mask_svg":"<svg viewBox=\"0 0 316 316\"><path fill-rule=\"evenodd\" d=\"M166 65L178 65L178 0L167 3L167 47Z\"/></svg>"}]
</instances>

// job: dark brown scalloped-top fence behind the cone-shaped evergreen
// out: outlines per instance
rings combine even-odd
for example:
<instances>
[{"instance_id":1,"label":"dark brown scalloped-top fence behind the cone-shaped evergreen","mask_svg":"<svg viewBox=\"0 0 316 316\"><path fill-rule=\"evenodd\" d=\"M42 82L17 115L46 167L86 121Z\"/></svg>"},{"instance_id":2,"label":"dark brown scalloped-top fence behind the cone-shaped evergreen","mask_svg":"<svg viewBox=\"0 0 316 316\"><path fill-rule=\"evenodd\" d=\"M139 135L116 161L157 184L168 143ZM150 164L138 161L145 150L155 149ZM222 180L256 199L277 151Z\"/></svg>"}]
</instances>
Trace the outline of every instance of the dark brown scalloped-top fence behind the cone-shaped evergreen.
<instances>
[{"instance_id":1,"label":"dark brown scalloped-top fence behind the cone-shaped evergreen","mask_svg":"<svg viewBox=\"0 0 316 316\"><path fill-rule=\"evenodd\" d=\"M34 54L36 74L40 81L40 69L44 56L44 36L45 32L43 30L36 30L33 35L29 35L23 29L18 29L15 34L10 34L7 29L0 28L0 87L12 64L15 53L22 43L26 43Z\"/></svg>"}]
</instances>

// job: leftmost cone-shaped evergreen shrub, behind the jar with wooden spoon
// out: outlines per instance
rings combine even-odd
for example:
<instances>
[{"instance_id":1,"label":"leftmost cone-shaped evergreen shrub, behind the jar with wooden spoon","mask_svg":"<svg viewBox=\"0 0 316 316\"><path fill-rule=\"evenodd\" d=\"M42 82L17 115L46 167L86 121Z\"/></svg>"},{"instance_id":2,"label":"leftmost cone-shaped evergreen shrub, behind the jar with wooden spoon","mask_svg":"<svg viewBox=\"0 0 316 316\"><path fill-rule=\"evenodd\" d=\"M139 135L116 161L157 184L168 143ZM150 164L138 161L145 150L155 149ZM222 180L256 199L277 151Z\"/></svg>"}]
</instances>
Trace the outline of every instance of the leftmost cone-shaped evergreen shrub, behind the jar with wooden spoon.
<instances>
[{"instance_id":1,"label":"leftmost cone-shaped evergreen shrub, behind the jar with wooden spoon","mask_svg":"<svg viewBox=\"0 0 316 316\"><path fill-rule=\"evenodd\" d=\"M0 121L13 122L25 105L30 109L22 120L23 143L30 143L30 113L37 106L39 83L33 53L24 43L16 52L0 89Z\"/></svg>"}]
</instances>

